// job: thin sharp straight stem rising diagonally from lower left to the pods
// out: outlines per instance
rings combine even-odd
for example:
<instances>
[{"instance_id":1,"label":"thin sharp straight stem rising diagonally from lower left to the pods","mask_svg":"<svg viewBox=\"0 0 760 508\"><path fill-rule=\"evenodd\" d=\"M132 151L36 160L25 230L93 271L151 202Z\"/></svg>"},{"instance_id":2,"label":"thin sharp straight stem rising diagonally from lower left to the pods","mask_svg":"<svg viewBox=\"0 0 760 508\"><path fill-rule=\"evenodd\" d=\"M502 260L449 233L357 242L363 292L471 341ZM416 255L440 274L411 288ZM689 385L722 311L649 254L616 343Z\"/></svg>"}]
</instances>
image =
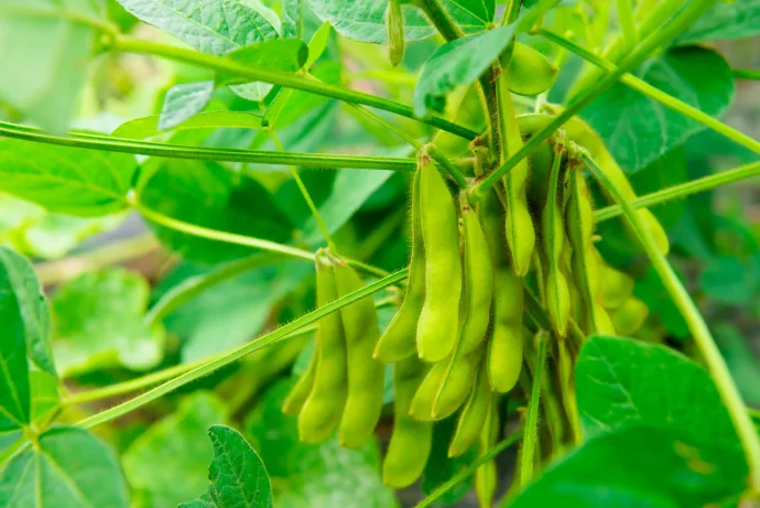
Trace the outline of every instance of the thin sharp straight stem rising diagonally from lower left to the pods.
<instances>
[{"instance_id":1,"label":"thin sharp straight stem rising diagonally from lower left to the pods","mask_svg":"<svg viewBox=\"0 0 760 508\"><path fill-rule=\"evenodd\" d=\"M257 352L265 346L269 346L271 344L274 344L276 342L280 342L284 338L286 338L289 335L293 334L294 332L303 328L306 325L310 325L312 323L316 323L319 321L322 317L326 316L327 314L330 314L333 312L338 311L339 309L349 305L358 300L361 300L362 298L369 296L371 294L377 293L378 291L388 288L389 285L392 285L401 280L403 280L406 274L408 274L408 269L398 271L395 273L392 273L384 279L380 279L379 281L376 281L369 285L363 287L362 289L355 291L350 294L347 294L346 296L343 296L332 303L328 303L327 305L323 305L322 307L310 312L306 315L303 315L298 317L297 320L275 329L274 332L271 332L267 335L263 335L262 337L253 341L252 343L245 344L236 349L234 349L230 353L225 354L224 356L220 356L218 358L214 358L210 361L207 361L193 370L189 370L187 372L184 372L166 382L163 385L160 385L155 388L153 388L150 391L146 391L143 394L140 394L138 397L134 397L131 400L128 400L127 402L123 402L119 406L116 406L111 409L108 409L106 411L102 411L98 414L95 414L90 418L86 418L77 423L78 426L82 426L84 429L90 429L95 425L99 425L101 423L110 422L112 420L116 420L120 417L123 417L124 414L128 414L142 406L145 406L146 403L150 403L154 401L155 399L165 396L166 393L170 393L177 388L181 388L189 382L195 381L196 379L200 379L204 376L208 376L209 374L214 372L217 369L220 369L234 361L237 361L238 359L242 358L243 356L247 356L253 352Z\"/></svg>"}]
</instances>

